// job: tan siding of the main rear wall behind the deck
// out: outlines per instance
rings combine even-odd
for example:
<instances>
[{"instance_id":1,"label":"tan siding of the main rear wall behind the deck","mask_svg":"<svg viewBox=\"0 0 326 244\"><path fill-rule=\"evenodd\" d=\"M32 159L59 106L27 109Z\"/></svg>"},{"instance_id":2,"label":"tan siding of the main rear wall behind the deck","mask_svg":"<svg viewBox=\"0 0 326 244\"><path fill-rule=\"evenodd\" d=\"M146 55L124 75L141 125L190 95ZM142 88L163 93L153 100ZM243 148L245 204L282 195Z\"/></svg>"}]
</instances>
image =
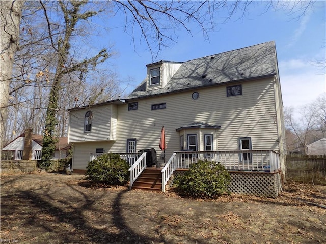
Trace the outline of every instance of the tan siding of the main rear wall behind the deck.
<instances>
[{"instance_id":1,"label":"tan siding of the main rear wall behind the deck","mask_svg":"<svg viewBox=\"0 0 326 244\"><path fill-rule=\"evenodd\" d=\"M125 150L126 139L137 138L137 150L153 147L159 157L162 155L158 148L160 130L164 125L166 155L171 156L180 149L180 134L176 129L194 121L221 126L216 130L217 138L214 135L215 150L238 149L239 137L252 137L253 149L279 150L273 79L239 84L242 84L239 96L226 97L224 85L198 89L197 100L191 98L194 92L191 90L138 100L138 110L128 111L126 105L119 106L119 136L111 150ZM166 109L151 110L152 104L164 102ZM198 138L202 143L204 133Z\"/></svg>"}]
</instances>

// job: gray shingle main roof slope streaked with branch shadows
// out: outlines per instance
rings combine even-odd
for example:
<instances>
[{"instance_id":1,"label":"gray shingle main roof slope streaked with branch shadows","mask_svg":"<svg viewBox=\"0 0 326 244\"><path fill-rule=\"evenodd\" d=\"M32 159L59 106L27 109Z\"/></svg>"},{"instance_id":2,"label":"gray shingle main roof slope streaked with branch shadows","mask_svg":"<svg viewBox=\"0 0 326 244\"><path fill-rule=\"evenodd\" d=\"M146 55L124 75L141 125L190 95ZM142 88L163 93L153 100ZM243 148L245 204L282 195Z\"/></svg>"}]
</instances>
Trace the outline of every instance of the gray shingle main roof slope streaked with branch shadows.
<instances>
[{"instance_id":1,"label":"gray shingle main roof slope streaked with branch shadows","mask_svg":"<svg viewBox=\"0 0 326 244\"><path fill-rule=\"evenodd\" d=\"M165 87L147 91L145 79L127 99L273 76L277 73L276 62L274 41L189 60L182 63Z\"/></svg>"}]
</instances>

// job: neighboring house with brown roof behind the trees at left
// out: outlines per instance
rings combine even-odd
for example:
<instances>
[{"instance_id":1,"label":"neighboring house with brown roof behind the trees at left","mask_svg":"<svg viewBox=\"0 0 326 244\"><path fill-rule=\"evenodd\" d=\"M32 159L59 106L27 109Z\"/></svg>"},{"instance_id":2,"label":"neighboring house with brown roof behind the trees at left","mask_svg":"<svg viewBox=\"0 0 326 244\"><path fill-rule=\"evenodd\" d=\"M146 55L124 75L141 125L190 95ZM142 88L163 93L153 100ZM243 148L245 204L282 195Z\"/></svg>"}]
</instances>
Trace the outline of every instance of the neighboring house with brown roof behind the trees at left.
<instances>
[{"instance_id":1,"label":"neighboring house with brown roof behind the trees at left","mask_svg":"<svg viewBox=\"0 0 326 244\"><path fill-rule=\"evenodd\" d=\"M27 131L26 131L27 133ZM68 155L71 146L68 144L67 137L59 137L56 143L55 155L52 159L63 159ZM31 134L30 142L27 142L25 133L21 134L13 141L8 143L2 150L1 160L22 160L24 159L24 150L26 152L26 144L30 144L30 153L27 153L26 159L40 160L42 156L43 137L41 135Z\"/></svg>"}]
</instances>

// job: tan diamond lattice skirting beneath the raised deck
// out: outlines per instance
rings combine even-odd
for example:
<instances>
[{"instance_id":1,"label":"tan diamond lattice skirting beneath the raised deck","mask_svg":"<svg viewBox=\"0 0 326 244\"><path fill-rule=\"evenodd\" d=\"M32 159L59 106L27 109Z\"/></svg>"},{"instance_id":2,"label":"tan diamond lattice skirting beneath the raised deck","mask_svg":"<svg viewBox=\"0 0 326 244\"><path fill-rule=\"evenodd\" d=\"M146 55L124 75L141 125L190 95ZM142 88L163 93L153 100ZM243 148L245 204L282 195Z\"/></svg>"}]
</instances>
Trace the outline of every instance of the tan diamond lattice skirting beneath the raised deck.
<instances>
[{"instance_id":1,"label":"tan diamond lattice skirting beneath the raised deck","mask_svg":"<svg viewBox=\"0 0 326 244\"><path fill-rule=\"evenodd\" d=\"M169 186L173 185L174 177L184 174L185 170L176 170L170 179ZM231 184L229 191L237 194L248 194L260 197L278 197L282 191L281 177L279 172L238 172L229 171Z\"/></svg>"}]
</instances>

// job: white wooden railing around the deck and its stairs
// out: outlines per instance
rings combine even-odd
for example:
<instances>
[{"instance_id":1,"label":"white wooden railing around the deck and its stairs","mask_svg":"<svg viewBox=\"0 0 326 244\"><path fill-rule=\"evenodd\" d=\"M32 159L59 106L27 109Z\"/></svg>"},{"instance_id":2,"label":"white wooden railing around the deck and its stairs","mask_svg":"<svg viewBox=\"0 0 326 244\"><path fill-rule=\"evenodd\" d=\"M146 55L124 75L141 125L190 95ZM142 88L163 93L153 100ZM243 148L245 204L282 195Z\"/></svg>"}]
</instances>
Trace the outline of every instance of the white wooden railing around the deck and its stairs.
<instances>
[{"instance_id":1,"label":"white wooden railing around the deck and its stairs","mask_svg":"<svg viewBox=\"0 0 326 244\"><path fill-rule=\"evenodd\" d=\"M90 161L106 153L90 153ZM130 188L146 168L146 153L117 153L131 166ZM274 150L233 150L233 151L175 151L161 170L162 191L176 169L188 169L198 160L221 163L228 170L265 171L280 170L280 154Z\"/></svg>"}]
</instances>

